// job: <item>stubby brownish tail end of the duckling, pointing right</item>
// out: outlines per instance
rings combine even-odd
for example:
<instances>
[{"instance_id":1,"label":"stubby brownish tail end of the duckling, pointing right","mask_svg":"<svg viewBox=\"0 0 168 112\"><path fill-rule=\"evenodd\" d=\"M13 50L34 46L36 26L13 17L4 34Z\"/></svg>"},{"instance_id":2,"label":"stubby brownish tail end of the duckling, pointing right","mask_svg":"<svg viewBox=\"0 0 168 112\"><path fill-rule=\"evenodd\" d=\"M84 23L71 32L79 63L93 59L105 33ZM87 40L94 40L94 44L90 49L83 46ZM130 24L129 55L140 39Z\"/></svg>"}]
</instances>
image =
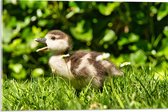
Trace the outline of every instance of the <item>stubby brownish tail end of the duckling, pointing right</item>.
<instances>
[{"instance_id":1,"label":"stubby brownish tail end of the duckling, pointing right","mask_svg":"<svg viewBox=\"0 0 168 112\"><path fill-rule=\"evenodd\" d=\"M113 63L107 60L102 60L101 64L104 66L106 69L108 75L112 76L123 76L124 73L119 70Z\"/></svg>"}]
</instances>

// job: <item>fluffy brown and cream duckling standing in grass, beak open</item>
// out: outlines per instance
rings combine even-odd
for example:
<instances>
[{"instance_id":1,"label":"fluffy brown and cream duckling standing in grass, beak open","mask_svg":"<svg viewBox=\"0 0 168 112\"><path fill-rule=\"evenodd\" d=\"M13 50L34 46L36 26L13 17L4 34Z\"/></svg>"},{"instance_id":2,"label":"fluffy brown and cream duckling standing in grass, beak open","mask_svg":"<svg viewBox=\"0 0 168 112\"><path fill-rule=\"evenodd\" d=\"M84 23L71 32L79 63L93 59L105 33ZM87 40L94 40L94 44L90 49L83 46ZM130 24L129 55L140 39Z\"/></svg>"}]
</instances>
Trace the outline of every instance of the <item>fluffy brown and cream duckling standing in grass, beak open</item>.
<instances>
[{"instance_id":1,"label":"fluffy brown and cream duckling standing in grass, beak open","mask_svg":"<svg viewBox=\"0 0 168 112\"><path fill-rule=\"evenodd\" d=\"M49 31L45 38L37 38L35 41L46 45L37 49L37 52L52 52L49 59L52 73L69 80L77 90L88 84L93 88L102 88L106 76L123 75L123 72L108 60L108 53L79 50L70 54L71 38L60 30Z\"/></svg>"}]
</instances>

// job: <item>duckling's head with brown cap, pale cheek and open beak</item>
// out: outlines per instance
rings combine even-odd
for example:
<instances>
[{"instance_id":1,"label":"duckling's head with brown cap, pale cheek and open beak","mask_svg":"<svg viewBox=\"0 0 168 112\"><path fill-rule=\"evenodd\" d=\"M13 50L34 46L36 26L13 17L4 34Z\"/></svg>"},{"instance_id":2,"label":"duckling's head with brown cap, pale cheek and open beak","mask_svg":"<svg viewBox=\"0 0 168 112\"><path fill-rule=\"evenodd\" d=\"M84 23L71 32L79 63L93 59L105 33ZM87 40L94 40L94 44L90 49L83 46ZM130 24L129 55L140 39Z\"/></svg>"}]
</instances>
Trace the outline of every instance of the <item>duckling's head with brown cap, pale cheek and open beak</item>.
<instances>
[{"instance_id":1,"label":"duckling's head with brown cap, pale cheek and open beak","mask_svg":"<svg viewBox=\"0 0 168 112\"><path fill-rule=\"evenodd\" d=\"M52 30L46 34L45 38L37 38L35 41L46 45L37 52L50 50L54 54L63 54L71 48L70 37L60 30Z\"/></svg>"}]
</instances>

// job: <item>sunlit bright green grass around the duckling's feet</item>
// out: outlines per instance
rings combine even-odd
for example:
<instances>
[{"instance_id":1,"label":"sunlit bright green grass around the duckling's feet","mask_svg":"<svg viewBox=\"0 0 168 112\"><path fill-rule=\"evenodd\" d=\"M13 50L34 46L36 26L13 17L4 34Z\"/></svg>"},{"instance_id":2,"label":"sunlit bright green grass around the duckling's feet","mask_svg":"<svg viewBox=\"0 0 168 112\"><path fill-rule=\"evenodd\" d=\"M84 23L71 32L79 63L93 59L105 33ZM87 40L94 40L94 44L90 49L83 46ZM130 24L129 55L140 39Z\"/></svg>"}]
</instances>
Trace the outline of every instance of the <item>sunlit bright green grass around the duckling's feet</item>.
<instances>
[{"instance_id":1,"label":"sunlit bright green grass around the duckling's feet","mask_svg":"<svg viewBox=\"0 0 168 112\"><path fill-rule=\"evenodd\" d=\"M168 74L155 69L124 69L125 76L108 78L103 92L87 86L79 97L60 77L3 80L2 110L168 108Z\"/></svg>"}]
</instances>

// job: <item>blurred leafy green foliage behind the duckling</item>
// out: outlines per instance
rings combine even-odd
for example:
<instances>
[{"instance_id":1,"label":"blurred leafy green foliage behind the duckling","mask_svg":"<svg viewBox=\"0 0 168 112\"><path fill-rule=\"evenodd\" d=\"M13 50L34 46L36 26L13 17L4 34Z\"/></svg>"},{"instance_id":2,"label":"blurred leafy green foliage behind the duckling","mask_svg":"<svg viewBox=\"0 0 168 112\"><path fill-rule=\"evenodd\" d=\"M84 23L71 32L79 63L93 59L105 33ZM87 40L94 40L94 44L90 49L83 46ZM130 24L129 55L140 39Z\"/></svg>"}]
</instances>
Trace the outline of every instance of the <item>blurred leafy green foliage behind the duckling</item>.
<instances>
[{"instance_id":1,"label":"blurred leafy green foliage behind the duckling","mask_svg":"<svg viewBox=\"0 0 168 112\"><path fill-rule=\"evenodd\" d=\"M60 29L73 50L109 52L116 64L166 65L168 3L3 1L3 75L24 79L48 74L49 53L35 38Z\"/></svg>"}]
</instances>

